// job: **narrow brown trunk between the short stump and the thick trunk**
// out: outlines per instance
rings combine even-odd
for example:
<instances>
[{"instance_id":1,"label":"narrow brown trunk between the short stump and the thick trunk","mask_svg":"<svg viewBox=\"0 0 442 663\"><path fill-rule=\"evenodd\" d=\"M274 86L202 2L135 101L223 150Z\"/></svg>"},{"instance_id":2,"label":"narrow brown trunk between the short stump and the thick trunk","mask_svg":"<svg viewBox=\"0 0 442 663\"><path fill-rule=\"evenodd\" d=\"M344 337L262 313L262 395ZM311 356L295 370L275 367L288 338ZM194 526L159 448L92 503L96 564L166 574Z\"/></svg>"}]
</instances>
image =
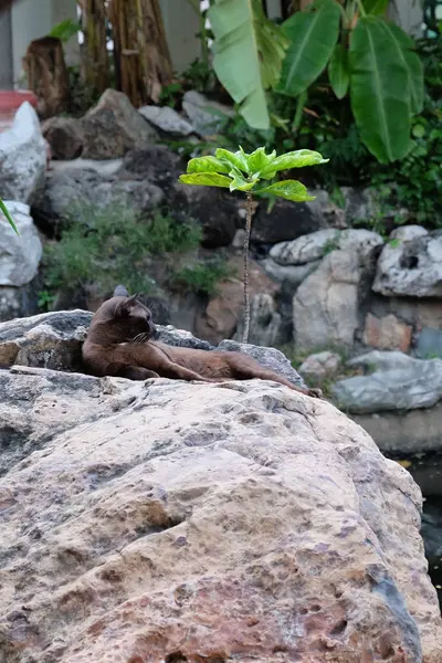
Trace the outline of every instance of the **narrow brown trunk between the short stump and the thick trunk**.
<instances>
[{"instance_id":1,"label":"narrow brown trunk between the short stump and the thick trunk","mask_svg":"<svg viewBox=\"0 0 442 663\"><path fill-rule=\"evenodd\" d=\"M102 94L109 87L109 59L106 45L105 0L80 0L84 44L83 81Z\"/></svg>"}]
</instances>

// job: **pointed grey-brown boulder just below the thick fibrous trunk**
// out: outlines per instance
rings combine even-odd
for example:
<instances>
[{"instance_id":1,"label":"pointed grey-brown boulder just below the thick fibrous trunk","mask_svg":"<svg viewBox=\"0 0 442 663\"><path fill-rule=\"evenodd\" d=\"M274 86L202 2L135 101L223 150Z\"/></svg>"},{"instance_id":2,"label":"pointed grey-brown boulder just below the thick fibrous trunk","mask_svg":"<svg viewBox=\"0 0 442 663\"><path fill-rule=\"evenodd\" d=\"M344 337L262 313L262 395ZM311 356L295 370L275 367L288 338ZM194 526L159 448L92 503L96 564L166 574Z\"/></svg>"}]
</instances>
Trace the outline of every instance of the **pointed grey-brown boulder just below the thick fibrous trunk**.
<instances>
[{"instance_id":1,"label":"pointed grey-brown boulder just below the thick fibrous trunk","mask_svg":"<svg viewBox=\"0 0 442 663\"><path fill-rule=\"evenodd\" d=\"M106 90L97 105L81 120L85 159L115 159L143 143L152 143L157 131L137 113L123 92Z\"/></svg>"}]
</instances>

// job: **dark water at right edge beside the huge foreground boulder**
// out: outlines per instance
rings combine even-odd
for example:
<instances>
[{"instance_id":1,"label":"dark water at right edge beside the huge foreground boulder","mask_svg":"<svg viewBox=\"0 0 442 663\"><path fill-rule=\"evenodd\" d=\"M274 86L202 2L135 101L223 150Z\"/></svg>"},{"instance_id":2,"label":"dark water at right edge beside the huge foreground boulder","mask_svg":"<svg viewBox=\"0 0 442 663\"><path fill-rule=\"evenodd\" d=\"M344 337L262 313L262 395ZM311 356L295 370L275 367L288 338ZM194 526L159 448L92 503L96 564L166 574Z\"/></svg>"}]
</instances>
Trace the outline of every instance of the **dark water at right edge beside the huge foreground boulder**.
<instances>
[{"instance_id":1,"label":"dark water at right edge beside the huge foreground boulder","mask_svg":"<svg viewBox=\"0 0 442 663\"><path fill-rule=\"evenodd\" d=\"M407 470L422 491L424 503L421 535L429 561L429 575L438 590L442 609L442 453L392 460L406 461Z\"/></svg>"}]
</instances>

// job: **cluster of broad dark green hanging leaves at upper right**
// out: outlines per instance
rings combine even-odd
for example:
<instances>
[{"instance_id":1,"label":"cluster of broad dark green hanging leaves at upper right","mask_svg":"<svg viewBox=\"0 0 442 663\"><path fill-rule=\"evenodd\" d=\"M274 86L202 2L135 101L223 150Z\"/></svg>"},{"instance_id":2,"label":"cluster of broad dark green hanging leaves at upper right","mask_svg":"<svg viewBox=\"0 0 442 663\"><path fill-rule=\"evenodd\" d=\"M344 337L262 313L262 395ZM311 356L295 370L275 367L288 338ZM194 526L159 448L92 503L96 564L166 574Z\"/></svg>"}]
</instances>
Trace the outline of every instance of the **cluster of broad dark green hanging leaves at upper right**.
<instances>
[{"instance_id":1,"label":"cluster of broad dark green hanging leaves at upper right","mask_svg":"<svg viewBox=\"0 0 442 663\"><path fill-rule=\"evenodd\" d=\"M316 0L283 23L291 42L276 92L304 99L327 69L337 98L350 96L361 140L381 164L411 145L423 105L423 66L413 40L383 18L388 0ZM304 105L304 104L303 104Z\"/></svg>"}]
</instances>

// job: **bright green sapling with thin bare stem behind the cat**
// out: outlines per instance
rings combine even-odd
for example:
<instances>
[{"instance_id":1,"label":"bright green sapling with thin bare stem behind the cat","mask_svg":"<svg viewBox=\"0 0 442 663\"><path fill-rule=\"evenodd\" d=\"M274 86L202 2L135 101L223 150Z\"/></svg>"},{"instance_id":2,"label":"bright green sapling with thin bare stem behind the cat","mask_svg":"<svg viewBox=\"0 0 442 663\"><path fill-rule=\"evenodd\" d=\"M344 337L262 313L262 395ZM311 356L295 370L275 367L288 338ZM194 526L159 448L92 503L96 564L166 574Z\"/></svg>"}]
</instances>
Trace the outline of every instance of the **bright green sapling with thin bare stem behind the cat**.
<instances>
[{"instance_id":1,"label":"bright green sapling with thin bare stem behind the cat","mask_svg":"<svg viewBox=\"0 0 442 663\"><path fill-rule=\"evenodd\" d=\"M243 191L246 197L245 235L243 244L244 260L244 332L243 343L249 341L250 329L250 297L249 297L249 246L252 230L253 194L271 196L305 202L314 200L306 187L297 180L278 180L281 171L305 166L326 164L317 151L299 149L276 156L276 151L265 152L259 147L252 154L246 154L240 146L235 152L223 148L215 150L215 156L190 159L187 172L179 181L183 185L221 187L230 191Z\"/></svg>"}]
</instances>

